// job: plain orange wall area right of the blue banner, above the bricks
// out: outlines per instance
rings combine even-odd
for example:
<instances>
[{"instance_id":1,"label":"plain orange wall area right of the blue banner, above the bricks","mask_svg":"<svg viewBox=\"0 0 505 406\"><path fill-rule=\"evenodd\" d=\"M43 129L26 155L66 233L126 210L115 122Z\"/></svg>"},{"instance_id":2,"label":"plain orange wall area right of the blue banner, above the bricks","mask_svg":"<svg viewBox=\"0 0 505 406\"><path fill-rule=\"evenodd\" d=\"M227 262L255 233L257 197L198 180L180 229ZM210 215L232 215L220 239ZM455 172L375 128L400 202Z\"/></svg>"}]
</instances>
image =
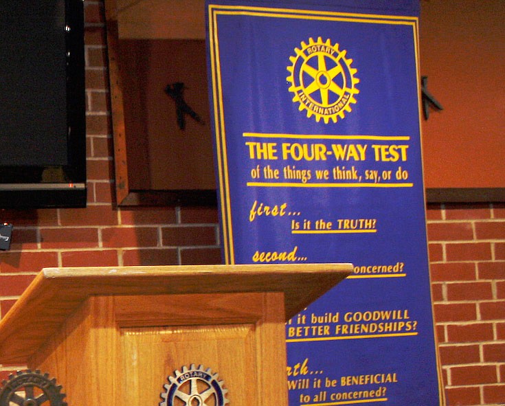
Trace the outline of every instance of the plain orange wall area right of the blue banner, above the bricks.
<instances>
[{"instance_id":1,"label":"plain orange wall area right of the blue banner, above the bricks","mask_svg":"<svg viewBox=\"0 0 505 406\"><path fill-rule=\"evenodd\" d=\"M505 1L420 4L420 72L444 108L423 123L425 186L505 188Z\"/></svg>"}]
</instances>

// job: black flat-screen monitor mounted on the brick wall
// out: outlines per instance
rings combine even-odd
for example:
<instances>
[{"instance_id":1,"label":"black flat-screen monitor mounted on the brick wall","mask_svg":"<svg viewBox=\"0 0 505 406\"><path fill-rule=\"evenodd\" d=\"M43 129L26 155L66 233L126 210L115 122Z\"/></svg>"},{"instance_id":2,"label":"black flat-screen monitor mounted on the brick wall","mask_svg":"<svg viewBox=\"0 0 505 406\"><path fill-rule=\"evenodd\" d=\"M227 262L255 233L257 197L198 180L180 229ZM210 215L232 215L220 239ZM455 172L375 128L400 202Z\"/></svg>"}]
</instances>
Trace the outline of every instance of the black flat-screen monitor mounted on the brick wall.
<instances>
[{"instance_id":1,"label":"black flat-screen monitor mounted on the brick wall","mask_svg":"<svg viewBox=\"0 0 505 406\"><path fill-rule=\"evenodd\" d=\"M1 0L0 38L0 209L85 207L82 0Z\"/></svg>"}]
</instances>

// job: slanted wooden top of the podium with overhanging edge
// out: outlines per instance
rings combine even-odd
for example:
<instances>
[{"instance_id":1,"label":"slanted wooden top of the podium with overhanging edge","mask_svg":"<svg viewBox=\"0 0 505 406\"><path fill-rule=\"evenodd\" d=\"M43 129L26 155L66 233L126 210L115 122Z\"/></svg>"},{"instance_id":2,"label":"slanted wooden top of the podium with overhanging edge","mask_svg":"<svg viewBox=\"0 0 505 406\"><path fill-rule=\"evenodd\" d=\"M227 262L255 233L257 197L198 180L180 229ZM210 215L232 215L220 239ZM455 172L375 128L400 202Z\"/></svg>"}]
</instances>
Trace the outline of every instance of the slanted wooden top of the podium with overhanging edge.
<instances>
[{"instance_id":1,"label":"slanted wooden top of the podium with overhanging edge","mask_svg":"<svg viewBox=\"0 0 505 406\"><path fill-rule=\"evenodd\" d=\"M0 363L23 365L89 296L283 292L293 317L352 264L45 268L0 320Z\"/></svg>"}]
</instances>

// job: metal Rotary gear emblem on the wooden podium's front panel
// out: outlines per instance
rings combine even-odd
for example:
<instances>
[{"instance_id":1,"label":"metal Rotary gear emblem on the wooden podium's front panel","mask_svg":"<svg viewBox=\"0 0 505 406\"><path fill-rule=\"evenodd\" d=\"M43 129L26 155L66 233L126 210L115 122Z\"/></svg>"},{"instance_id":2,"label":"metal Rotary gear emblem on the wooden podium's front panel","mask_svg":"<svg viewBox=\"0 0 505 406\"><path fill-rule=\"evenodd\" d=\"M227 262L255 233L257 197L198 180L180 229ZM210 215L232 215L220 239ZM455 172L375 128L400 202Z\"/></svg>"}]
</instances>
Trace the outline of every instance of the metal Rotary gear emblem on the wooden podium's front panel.
<instances>
[{"instance_id":1,"label":"metal Rotary gear emblem on the wooden podium's front panel","mask_svg":"<svg viewBox=\"0 0 505 406\"><path fill-rule=\"evenodd\" d=\"M189 369L183 366L182 372L176 370L175 376L168 376L168 382L163 386L159 406L224 406L229 402L218 374L202 365L195 368L191 364Z\"/></svg>"}]
</instances>

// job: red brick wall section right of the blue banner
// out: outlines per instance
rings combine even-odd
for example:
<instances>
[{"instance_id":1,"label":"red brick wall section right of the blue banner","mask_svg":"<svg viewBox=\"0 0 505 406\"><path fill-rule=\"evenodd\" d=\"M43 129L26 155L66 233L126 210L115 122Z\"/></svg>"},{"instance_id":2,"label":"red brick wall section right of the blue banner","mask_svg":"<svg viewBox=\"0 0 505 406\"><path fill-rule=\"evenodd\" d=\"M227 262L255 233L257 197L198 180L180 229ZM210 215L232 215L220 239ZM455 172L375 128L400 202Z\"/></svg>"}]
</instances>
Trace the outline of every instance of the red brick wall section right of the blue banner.
<instances>
[{"instance_id":1,"label":"red brick wall section right of the blue banner","mask_svg":"<svg viewBox=\"0 0 505 406\"><path fill-rule=\"evenodd\" d=\"M505 404L505 205L429 205L431 288L448 405Z\"/></svg>"}]
</instances>

